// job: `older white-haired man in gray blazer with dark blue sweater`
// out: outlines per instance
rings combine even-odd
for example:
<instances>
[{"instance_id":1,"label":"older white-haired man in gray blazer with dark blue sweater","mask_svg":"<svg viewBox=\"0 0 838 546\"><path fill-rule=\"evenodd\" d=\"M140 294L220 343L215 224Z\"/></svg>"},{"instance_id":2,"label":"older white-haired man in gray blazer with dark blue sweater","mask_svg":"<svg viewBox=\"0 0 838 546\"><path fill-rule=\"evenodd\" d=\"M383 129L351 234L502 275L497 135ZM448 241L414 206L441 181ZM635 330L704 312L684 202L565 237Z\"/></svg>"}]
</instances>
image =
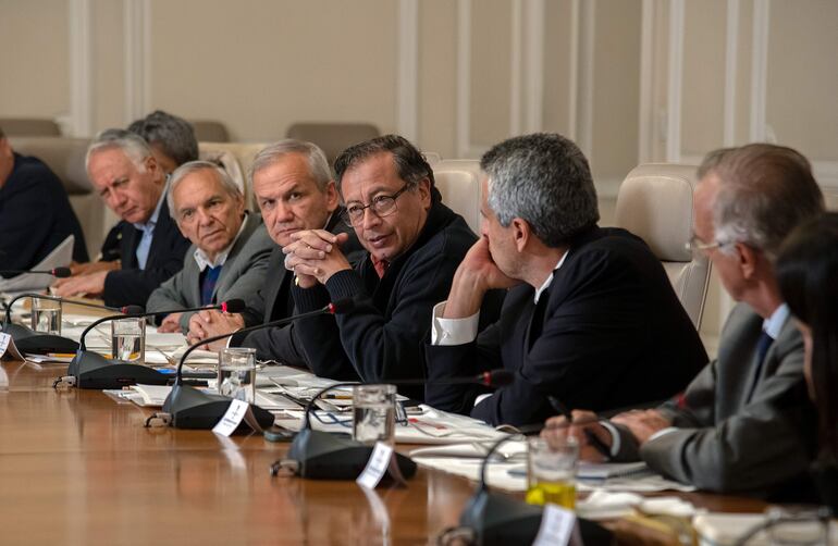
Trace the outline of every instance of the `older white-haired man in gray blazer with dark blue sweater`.
<instances>
[{"instance_id":1,"label":"older white-haired man in gray blazer with dark blue sweater","mask_svg":"<svg viewBox=\"0 0 838 546\"><path fill-rule=\"evenodd\" d=\"M273 244L226 172L206 161L185 163L172 173L167 201L192 246L183 270L151 293L149 312L245 299L259 289ZM186 333L193 314L171 313L158 331Z\"/></svg>"}]
</instances>

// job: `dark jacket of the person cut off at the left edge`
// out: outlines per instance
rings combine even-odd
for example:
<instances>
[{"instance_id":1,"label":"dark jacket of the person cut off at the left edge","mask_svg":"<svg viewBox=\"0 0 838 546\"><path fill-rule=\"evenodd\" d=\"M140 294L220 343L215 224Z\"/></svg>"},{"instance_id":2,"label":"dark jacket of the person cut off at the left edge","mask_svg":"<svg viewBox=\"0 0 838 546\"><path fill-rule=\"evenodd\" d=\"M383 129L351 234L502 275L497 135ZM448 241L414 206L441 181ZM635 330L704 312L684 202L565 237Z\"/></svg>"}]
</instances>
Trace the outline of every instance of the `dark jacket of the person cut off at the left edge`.
<instances>
[{"instance_id":1,"label":"dark jacket of the person cut off at the left edge","mask_svg":"<svg viewBox=\"0 0 838 546\"><path fill-rule=\"evenodd\" d=\"M32 269L69 235L73 259L86 262L85 236L61 181L39 159L15 153L0 186L0 270Z\"/></svg>"}]
</instances>

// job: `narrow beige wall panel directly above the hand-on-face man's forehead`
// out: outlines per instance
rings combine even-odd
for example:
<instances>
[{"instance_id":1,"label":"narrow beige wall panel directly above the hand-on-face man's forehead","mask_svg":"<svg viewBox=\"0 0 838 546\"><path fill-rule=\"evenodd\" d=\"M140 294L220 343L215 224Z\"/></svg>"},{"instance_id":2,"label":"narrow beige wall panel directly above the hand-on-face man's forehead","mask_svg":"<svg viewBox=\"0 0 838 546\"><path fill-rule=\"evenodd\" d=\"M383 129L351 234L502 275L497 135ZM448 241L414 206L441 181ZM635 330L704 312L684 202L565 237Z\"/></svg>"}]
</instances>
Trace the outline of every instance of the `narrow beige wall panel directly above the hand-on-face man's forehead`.
<instances>
[{"instance_id":1,"label":"narrow beige wall panel directly above the hand-on-face man's forehead","mask_svg":"<svg viewBox=\"0 0 838 546\"><path fill-rule=\"evenodd\" d=\"M471 144L509 136L512 2L471 2Z\"/></svg>"}]
</instances>

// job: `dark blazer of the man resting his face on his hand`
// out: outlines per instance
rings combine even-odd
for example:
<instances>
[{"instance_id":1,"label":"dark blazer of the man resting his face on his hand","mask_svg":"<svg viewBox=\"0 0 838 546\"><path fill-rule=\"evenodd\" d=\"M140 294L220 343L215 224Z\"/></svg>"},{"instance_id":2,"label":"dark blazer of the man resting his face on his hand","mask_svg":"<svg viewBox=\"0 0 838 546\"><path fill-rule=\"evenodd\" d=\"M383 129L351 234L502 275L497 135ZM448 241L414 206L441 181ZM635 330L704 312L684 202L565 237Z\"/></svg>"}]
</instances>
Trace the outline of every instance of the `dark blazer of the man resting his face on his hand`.
<instances>
[{"instance_id":1,"label":"dark blazer of the man resting his face on his hand","mask_svg":"<svg viewBox=\"0 0 838 546\"><path fill-rule=\"evenodd\" d=\"M557 413L547 396L594 411L661 400L707 361L661 262L625 229L595 227L571 243L530 339L533 296L529 285L512 288L475 342L428 347L432 381L505 368L515 382L477 406L477 387L429 385L428 404L495 425L540 423Z\"/></svg>"}]
</instances>

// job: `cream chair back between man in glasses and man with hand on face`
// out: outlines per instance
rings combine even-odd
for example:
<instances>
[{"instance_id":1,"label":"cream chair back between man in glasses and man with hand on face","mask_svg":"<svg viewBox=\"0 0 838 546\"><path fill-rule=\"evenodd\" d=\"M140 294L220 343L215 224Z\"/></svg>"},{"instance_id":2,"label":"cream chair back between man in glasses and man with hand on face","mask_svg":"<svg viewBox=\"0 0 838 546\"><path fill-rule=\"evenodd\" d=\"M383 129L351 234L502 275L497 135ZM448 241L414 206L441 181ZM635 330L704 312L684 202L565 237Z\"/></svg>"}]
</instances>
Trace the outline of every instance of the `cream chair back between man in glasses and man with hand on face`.
<instances>
[{"instance_id":1,"label":"cream chair back between man in glasses and man with hand on face","mask_svg":"<svg viewBox=\"0 0 838 546\"><path fill-rule=\"evenodd\" d=\"M466 219L476 234L480 233L480 161L444 159L432 163L433 177L442 194L442 202Z\"/></svg>"}]
</instances>

